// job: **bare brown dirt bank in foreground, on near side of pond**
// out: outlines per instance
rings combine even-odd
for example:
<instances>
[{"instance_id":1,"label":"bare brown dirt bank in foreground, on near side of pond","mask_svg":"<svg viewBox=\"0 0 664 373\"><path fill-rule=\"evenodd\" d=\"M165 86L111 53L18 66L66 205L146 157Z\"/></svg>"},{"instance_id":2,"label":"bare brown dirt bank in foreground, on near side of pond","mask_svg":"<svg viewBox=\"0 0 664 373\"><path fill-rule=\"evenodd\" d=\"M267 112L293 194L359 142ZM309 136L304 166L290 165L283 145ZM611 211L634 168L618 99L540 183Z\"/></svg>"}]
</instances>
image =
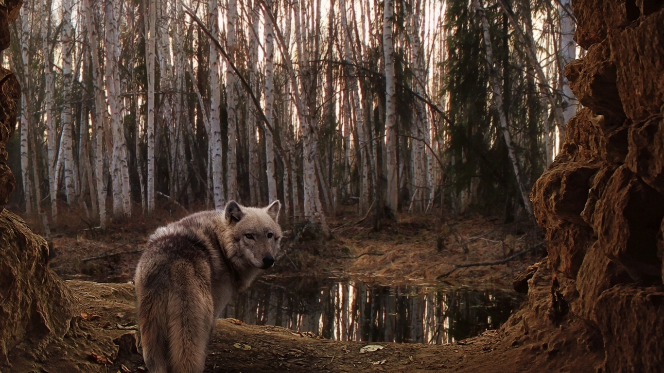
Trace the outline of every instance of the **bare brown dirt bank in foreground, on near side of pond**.
<instances>
[{"instance_id":1,"label":"bare brown dirt bank in foreground, on near side of pond","mask_svg":"<svg viewBox=\"0 0 664 373\"><path fill-rule=\"evenodd\" d=\"M72 319L69 331L39 356L35 356L31 341L19 344L9 355L12 366L7 371L144 372L135 330L133 285L72 280L66 281L66 286L82 310ZM339 342L280 327L220 319L212 334L205 371L591 371L589 364L595 355L579 348L574 325L533 331L537 339L548 336L550 345L519 336L522 327L523 319L517 314L498 331L454 344L377 343L383 346L381 350L362 354L361 348L373 343Z\"/></svg>"}]
</instances>

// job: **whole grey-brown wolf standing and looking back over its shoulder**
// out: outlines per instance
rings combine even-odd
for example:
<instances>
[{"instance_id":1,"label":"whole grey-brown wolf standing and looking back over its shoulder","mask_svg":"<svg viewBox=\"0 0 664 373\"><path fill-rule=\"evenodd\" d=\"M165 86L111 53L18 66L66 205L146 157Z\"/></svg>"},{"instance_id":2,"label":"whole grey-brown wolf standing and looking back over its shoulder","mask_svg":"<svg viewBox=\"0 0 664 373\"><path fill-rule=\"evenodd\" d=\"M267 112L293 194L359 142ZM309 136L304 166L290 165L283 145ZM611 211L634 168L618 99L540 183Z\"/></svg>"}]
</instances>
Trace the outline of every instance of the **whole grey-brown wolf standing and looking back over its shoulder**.
<instances>
[{"instance_id":1,"label":"whole grey-brown wolf standing and looking back over its shoulder","mask_svg":"<svg viewBox=\"0 0 664 373\"><path fill-rule=\"evenodd\" d=\"M158 228L134 283L143 358L150 373L203 372L214 322L230 298L274 265L281 203L235 201Z\"/></svg>"}]
</instances>

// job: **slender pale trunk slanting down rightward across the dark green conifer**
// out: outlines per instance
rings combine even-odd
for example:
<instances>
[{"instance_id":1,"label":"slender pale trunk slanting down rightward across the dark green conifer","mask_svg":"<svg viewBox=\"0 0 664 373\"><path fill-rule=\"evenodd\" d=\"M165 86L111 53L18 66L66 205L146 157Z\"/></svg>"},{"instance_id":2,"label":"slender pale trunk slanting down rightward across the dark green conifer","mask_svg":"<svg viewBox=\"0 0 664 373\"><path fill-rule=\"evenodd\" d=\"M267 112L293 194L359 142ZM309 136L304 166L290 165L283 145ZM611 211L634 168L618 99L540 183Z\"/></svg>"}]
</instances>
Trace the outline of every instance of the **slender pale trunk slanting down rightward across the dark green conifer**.
<instances>
[{"instance_id":1,"label":"slender pale trunk slanting down rightward across the dark green conifer","mask_svg":"<svg viewBox=\"0 0 664 373\"><path fill-rule=\"evenodd\" d=\"M505 138L505 145L507 146L507 153L512 163L514 175L517 181L517 187L519 187L519 190L521 191L523 206L526 209L526 212L528 212L528 215L533 216L533 206L531 206L531 200L528 197L527 188L525 187L525 185L523 185L523 183L521 183L521 176L519 173L519 161L514 151L514 147L512 146L511 135L509 133L509 127L507 124L507 118L505 117L505 111L503 110L503 94L500 89L498 74L493 65L493 46L491 46L491 35L489 34L489 22L487 21L484 9L479 0L473 0L473 7L475 7L475 11L481 18L482 28L484 29L484 35L483 35L484 46L486 48L487 68L489 70L489 77L491 78L491 87L493 88L493 102L495 109L498 112L501 129L503 131L503 137Z\"/></svg>"}]
</instances>

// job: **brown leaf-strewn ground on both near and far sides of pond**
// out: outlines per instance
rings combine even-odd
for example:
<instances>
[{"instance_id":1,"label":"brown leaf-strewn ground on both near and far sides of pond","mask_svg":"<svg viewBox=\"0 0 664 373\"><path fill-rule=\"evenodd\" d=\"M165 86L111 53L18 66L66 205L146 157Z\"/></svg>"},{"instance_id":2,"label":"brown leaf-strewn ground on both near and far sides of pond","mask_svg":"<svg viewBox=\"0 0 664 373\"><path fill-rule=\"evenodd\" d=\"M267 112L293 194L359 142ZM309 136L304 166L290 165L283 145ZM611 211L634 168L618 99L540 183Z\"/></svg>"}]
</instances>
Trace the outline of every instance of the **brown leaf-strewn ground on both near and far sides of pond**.
<instances>
[{"instance_id":1,"label":"brown leaf-strewn ground on both near and far sides of pond","mask_svg":"<svg viewBox=\"0 0 664 373\"><path fill-rule=\"evenodd\" d=\"M51 267L69 280L80 299L81 313L62 344L39 356L13 350L12 371L144 372L137 348L140 343L131 279L147 237L169 220L119 224L104 234L72 228L53 234ZM404 215L373 232L367 223L355 224L358 220L331 220L332 239L307 237L297 227L284 227L289 237L284 242L286 255L273 274L346 277L384 285L507 289L515 274L545 255L539 231L529 224L504 224L481 216L440 220ZM529 250L535 247L538 249ZM523 250L529 252L506 263L452 271L458 264L501 261ZM440 275L444 277L436 279ZM522 372L539 371L545 365L556 371L564 368L564 362L547 362L552 355L545 353L546 344L522 343L503 329L453 344L376 343L382 349L361 353L367 344L374 343L329 340L310 332L220 319L205 372Z\"/></svg>"}]
</instances>

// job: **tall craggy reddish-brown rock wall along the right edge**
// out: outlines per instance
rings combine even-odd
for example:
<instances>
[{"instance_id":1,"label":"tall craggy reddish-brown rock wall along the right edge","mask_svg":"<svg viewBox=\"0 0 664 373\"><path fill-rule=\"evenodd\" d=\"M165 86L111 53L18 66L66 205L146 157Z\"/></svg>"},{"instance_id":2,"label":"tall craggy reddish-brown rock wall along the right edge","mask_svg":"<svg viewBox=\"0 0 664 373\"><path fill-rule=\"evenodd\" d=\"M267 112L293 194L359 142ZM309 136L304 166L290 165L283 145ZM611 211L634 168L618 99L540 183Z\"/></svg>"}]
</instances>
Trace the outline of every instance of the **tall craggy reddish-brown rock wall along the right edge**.
<instances>
[{"instance_id":1,"label":"tall craggy reddish-brown rock wall along the right edge","mask_svg":"<svg viewBox=\"0 0 664 373\"><path fill-rule=\"evenodd\" d=\"M664 1L572 2L576 40L588 53L566 75L585 107L567 124L562 151L531 199L546 234L548 267L566 283L566 317L602 335L604 362L597 368L659 372Z\"/></svg>"}]
</instances>

